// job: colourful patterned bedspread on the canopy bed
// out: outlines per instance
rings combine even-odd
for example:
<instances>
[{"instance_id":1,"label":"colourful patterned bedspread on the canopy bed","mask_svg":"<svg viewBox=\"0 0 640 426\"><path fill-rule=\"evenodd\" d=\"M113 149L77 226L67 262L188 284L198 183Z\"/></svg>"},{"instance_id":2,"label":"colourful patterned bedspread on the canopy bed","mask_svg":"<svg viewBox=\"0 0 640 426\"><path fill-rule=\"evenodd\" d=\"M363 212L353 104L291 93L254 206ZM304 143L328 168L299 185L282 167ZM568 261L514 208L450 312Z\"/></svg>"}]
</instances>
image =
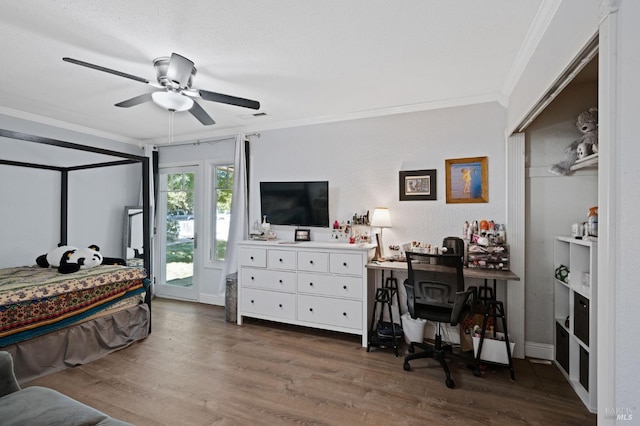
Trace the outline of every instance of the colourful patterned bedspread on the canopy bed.
<instances>
[{"instance_id":1,"label":"colourful patterned bedspread on the canopy bed","mask_svg":"<svg viewBox=\"0 0 640 426\"><path fill-rule=\"evenodd\" d=\"M15 340L7 336L40 327L48 332L53 324L64 326L139 294L145 290L145 277L142 268L111 265L72 274L38 266L0 269L0 346Z\"/></svg>"}]
</instances>

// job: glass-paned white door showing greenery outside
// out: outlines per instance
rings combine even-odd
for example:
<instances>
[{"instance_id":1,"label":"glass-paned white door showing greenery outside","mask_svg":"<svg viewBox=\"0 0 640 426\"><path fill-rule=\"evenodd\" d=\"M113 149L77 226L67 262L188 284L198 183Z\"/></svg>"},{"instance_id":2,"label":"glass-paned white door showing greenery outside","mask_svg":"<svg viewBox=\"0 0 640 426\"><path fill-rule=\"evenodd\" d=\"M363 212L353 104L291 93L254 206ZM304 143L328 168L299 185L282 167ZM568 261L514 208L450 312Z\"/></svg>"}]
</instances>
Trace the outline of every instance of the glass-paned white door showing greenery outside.
<instances>
[{"instance_id":1,"label":"glass-paned white door showing greenery outside","mask_svg":"<svg viewBox=\"0 0 640 426\"><path fill-rule=\"evenodd\" d=\"M196 188L198 167L160 170L160 282L158 296L196 300L198 235Z\"/></svg>"}]
</instances>

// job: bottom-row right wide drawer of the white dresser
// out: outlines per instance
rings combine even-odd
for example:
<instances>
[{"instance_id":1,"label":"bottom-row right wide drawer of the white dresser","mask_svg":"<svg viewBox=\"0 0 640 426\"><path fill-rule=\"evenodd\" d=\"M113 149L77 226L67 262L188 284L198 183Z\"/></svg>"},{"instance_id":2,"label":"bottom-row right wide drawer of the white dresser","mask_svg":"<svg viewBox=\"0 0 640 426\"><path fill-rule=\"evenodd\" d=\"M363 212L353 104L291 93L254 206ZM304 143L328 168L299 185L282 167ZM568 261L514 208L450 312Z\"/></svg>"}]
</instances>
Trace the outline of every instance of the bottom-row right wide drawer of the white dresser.
<instances>
[{"instance_id":1,"label":"bottom-row right wide drawer of the white dresser","mask_svg":"<svg viewBox=\"0 0 640 426\"><path fill-rule=\"evenodd\" d=\"M362 329L362 302L298 295L298 321Z\"/></svg>"}]
</instances>

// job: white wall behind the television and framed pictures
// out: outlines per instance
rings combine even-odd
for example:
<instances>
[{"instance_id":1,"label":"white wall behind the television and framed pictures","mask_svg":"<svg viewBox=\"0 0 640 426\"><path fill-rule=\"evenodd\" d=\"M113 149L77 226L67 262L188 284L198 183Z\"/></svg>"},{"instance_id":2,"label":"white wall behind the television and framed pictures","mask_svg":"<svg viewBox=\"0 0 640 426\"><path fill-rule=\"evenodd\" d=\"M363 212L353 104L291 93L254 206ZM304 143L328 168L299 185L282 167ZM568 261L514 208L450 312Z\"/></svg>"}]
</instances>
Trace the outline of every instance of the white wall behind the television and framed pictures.
<instances>
[{"instance_id":1,"label":"white wall behind the television and framed pictures","mask_svg":"<svg viewBox=\"0 0 640 426\"><path fill-rule=\"evenodd\" d=\"M466 220L504 223L505 110L497 103L261 132L251 144L250 219L259 220L259 182L328 180L330 219L389 207L384 244L440 245ZM444 161L489 158L489 202L447 204ZM399 171L436 169L436 201L399 201ZM276 227L292 239L291 227ZM329 230L312 230L323 239Z\"/></svg>"}]
</instances>

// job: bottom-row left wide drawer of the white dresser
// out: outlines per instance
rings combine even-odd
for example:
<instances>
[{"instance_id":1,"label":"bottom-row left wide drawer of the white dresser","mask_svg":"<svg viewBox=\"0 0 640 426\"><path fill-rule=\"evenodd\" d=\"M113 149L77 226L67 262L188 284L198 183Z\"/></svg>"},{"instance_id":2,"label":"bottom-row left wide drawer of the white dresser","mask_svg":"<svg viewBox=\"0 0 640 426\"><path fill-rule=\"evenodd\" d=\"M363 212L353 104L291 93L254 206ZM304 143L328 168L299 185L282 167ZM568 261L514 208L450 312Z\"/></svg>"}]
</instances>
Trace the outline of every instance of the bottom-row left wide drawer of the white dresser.
<instances>
[{"instance_id":1,"label":"bottom-row left wide drawer of the white dresser","mask_svg":"<svg viewBox=\"0 0 640 426\"><path fill-rule=\"evenodd\" d=\"M253 313L276 318L295 319L296 295L278 291L242 289L242 314Z\"/></svg>"}]
</instances>

